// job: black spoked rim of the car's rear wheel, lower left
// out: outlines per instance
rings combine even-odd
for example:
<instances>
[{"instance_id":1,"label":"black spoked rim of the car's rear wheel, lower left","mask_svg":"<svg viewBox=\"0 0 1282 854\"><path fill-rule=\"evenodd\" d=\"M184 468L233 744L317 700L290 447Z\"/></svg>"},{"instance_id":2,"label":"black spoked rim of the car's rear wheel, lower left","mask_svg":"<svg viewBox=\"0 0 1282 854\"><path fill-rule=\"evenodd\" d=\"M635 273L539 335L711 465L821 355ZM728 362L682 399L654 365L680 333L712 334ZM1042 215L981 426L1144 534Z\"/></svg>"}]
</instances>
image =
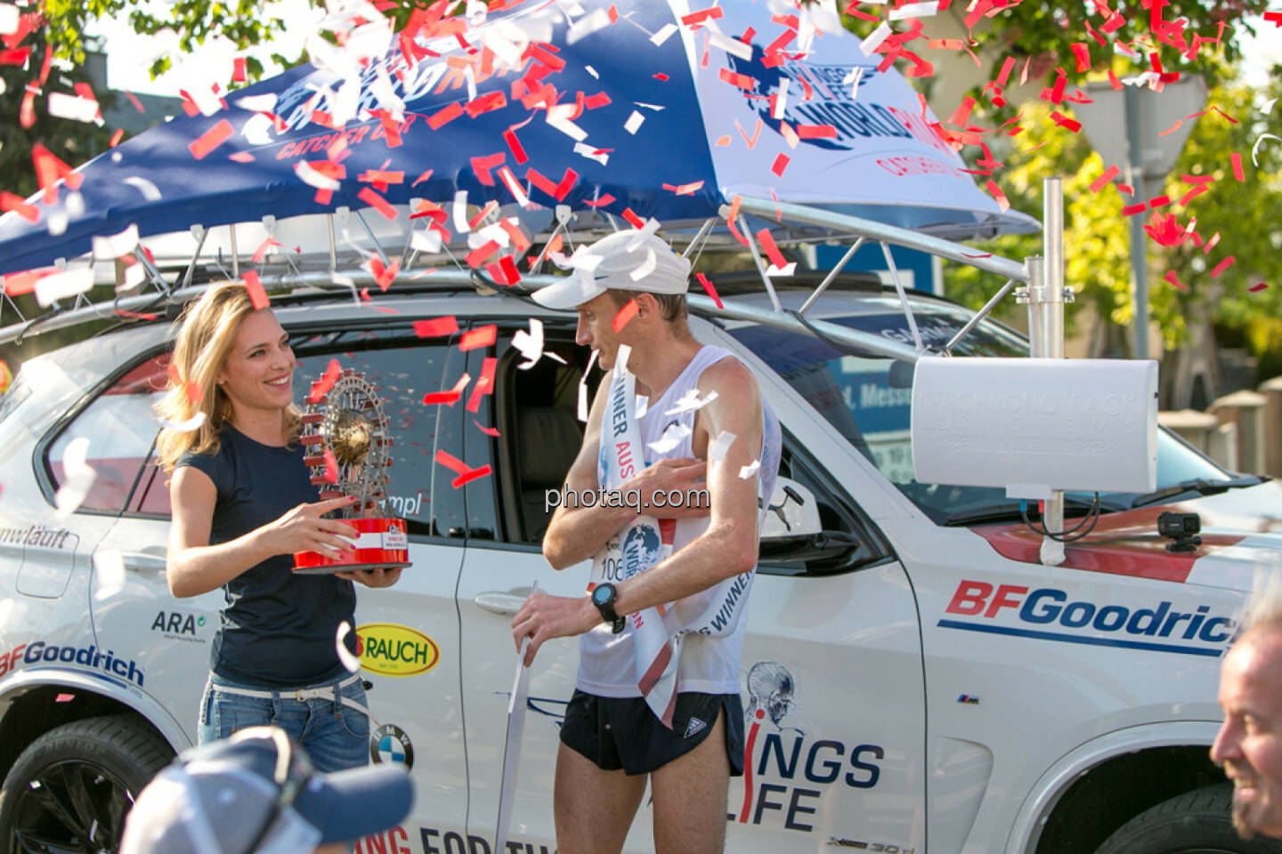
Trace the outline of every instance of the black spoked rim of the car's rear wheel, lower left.
<instances>
[{"instance_id":1,"label":"black spoked rim of the car's rear wheel, lower left","mask_svg":"<svg viewBox=\"0 0 1282 854\"><path fill-rule=\"evenodd\" d=\"M100 764L69 759L45 766L18 795L13 850L18 854L115 854L128 786Z\"/></svg>"}]
</instances>

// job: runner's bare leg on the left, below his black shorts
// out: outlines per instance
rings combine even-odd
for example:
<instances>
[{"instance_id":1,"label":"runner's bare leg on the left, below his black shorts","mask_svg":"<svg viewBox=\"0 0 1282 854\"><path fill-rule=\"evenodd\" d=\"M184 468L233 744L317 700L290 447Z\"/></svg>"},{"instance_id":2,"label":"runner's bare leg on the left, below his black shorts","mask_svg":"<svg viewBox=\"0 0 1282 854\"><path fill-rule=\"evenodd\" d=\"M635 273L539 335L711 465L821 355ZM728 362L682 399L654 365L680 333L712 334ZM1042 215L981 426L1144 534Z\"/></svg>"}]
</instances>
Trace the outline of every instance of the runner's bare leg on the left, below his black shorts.
<instances>
[{"instance_id":1,"label":"runner's bare leg on the left, below his black shorts","mask_svg":"<svg viewBox=\"0 0 1282 854\"><path fill-rule=\"evenodd\" d=\"M642 795L645 775L601 771L562 744L553 795L558 854L618 854Z\"/></svg>"}]
</instances>

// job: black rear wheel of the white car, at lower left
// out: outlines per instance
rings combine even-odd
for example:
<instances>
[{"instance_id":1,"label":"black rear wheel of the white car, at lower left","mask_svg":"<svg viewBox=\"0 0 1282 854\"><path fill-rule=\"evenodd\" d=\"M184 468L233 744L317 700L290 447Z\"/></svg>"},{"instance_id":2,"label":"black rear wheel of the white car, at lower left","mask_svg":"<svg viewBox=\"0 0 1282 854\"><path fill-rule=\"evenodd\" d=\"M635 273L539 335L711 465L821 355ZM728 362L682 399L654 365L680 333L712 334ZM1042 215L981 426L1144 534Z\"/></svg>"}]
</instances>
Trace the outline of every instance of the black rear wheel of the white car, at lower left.
<instances>
[{"instance_id":1,"label":"black rear wheel of the white car, at lower left","mask_svg":"<svg viewBox=\"0 0 1282 854\"><path fill-rule=\"evenodd\" d=\"M133 799L172 758L132 714L54 727L22 752L0 789L0 853L114 854Z\"/></svg>"}]
</instances>

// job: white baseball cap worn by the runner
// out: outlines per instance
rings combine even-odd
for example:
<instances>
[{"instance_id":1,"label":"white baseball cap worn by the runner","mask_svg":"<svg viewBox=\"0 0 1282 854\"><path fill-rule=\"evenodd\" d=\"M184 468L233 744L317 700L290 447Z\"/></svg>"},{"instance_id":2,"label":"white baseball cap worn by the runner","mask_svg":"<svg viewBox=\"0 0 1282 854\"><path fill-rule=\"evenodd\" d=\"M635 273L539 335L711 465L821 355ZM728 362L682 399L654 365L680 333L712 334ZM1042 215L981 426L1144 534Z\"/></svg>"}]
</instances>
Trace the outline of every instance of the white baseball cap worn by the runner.
<instances>
[{"instance_id":1,"label":"white baseball cap worn by the runner","mask_svg":"<svg viewBox=\"0 0 1282 854\"><path fill-rule=\"evenodd\" d=\"M535 302L549 309L573 309L610 288L646 293L685 293L690 261L663 239L638 230L615 232L581 247L570 257L574 273L535 291Z\"/></svg>"}]
</instances>

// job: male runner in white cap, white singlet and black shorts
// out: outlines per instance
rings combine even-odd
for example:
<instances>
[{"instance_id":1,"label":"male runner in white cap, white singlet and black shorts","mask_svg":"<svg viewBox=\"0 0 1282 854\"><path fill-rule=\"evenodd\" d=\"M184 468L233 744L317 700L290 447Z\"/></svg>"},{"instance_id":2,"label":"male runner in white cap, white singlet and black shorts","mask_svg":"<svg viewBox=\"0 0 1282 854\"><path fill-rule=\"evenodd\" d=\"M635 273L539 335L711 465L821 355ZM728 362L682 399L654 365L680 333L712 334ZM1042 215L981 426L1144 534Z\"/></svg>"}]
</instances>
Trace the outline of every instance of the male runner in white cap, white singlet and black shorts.
<instances>
[{"instance_id":1,"label":"male runner in white cap, white singlet and black shorts","mask_svg":"<svg viewBox=\"0 0 1282 854\"><path fill-rule=\"evenodd\" d=\"M746 618L738 617L756 567L758 495L768 504L778 471L778 423L744 362L691 337L688 261L640 232L612 234L581 254L583 270L535 293L545 306L578 311L576 341L596 350L609 371L567 492L635 489L642 513L677 522L662 525L670 556L629 575L626 558L635 547L649 553L645 545L659 545L629 528L637 512L563 502L544 538L544 554L558 570L595 557L592 595L536 593L512 622L518 648L531 639L527 663L549 638L581 635L578 684L556 757L556 846L562 854L619 851L649 775L658 854L722 851L728 778L744 769L738 689ZM615 332L615 318L628 315ZM636 394L645 398L641 414L631 399L623 411L623 387L614 385L627 376L618 364L623 346ZM695 392L705 401L697 410L690 407ZM628 428L638 430L644 462L626 451L619 458ZM654 442L667 449L656 452ZM673 493L700 488L706 488L710 508L667 506ZM690 634L673 644L674 666L658 656L647 671L653 649L641 639L641 626L654 631L655 608L665 603L672 613L663 622ZM665 676L655 682L665 661ZM645 671L640 680L638 670ZM665 681L669 673L674 686ZM665 685L670 699L663 697Z\"/></svg>"}]
</instances>

